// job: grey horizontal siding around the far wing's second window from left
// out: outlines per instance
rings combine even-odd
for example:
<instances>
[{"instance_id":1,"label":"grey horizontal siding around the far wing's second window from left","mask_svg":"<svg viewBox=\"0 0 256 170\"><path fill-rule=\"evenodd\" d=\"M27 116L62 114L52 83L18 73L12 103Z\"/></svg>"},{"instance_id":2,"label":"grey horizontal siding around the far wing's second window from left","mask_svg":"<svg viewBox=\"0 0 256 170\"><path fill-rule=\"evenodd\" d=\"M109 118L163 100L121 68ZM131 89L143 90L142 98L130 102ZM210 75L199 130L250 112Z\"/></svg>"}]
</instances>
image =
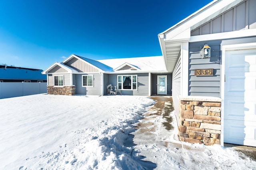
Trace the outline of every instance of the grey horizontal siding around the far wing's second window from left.
<instances>
[{"instance_id":1,"label":"grey horizontal siding around the far wing's second window from left","mask_svg":"<svg viewBox=\"0 0 256 170\"><path fill-rule=\"evenodd\" d=\"M93 87L82 87L82 75L93 75ZM76 74L76 95L101 95L101 75L97 74Z\"/></svg>"}]
</instances>

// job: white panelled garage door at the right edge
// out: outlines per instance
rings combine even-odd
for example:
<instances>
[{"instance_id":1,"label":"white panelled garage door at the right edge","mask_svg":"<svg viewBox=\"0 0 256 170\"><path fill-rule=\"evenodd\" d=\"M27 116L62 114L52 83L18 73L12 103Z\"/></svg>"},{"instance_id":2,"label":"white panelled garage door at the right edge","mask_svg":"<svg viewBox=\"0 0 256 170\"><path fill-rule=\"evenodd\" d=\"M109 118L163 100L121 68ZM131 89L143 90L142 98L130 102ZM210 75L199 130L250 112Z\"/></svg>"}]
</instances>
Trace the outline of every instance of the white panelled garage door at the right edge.
<instances>
[{"instance_id":1,"label":"white panelled garage door at the right edge","mask_svg":"<svg viewBox=\"0 0 256 170\"><path fill-rule=\"evenodd\" d=\"M226 51L224 142L256 146L256 49Z\"/></svg>"}]
</instances>

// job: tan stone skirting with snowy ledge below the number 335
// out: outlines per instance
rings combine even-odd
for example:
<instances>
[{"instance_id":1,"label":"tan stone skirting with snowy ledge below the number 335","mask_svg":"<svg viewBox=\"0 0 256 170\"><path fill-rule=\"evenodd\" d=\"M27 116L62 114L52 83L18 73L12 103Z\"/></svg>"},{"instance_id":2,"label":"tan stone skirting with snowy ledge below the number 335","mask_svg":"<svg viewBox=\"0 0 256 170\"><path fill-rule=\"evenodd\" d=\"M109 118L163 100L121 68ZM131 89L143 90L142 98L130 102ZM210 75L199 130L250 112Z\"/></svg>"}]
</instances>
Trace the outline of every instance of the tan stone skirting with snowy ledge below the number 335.
<instances>
[{"instance_id":1,"label":"tan stone skirting with snowy ledge below the number 335","mask_svg":"<svg viewBox=\"0 0 256 170\"><path fill-rule=\"evenodd\" d=\"M190 143L220 144L221 99L180 98L179 138Z\"/></svg>"}]
</instances>

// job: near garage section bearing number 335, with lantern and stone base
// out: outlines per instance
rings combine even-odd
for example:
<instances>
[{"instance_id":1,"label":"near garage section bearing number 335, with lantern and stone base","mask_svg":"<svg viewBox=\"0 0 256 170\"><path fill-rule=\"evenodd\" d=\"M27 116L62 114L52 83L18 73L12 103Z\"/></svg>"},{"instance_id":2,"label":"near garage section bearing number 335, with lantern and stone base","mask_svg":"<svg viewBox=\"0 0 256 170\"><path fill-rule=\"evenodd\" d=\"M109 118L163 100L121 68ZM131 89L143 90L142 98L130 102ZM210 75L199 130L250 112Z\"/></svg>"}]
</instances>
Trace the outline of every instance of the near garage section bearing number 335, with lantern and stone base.
<instances>
[{"instance_id":1,"label":"near garage section bearing number 335, with lantern and stone base","mask_svg":"<svg viewBox=\"0 0 256 170\"><path fill-rule=\"evenodd\" d=\"M256 146L255 9L214 0L158 34L180 140Z\"/></svg>"}]
</instances>

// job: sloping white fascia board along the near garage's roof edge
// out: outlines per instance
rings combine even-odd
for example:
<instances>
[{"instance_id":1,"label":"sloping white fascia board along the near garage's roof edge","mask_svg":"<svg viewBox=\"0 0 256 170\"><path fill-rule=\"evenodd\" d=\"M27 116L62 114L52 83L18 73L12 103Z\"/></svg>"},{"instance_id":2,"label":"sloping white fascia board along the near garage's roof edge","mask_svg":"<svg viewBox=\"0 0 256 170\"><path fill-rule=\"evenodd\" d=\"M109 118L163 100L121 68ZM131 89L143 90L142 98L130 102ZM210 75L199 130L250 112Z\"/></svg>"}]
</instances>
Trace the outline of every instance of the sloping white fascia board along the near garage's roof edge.
<instances>
[{"instance_id":1,"label":"sloping white fascia board along the near garage's roof edge","mask_svg":"<svg viewBox=\"0 0 256 170\"><path fill-rule=\"evenodd\" d=\"M230 6L231 8L242 1L243 0L216 0L206 5L205 7L201 8L197 12L193 13L189 17L185 18L184 20L182 20L181 22L179 22L178 24L174 25L173 27L171 27L170 29L168 29L167 31L161 34L164 34L165 40L171 40L178 34L184 32L188 28L190 29L191 26L193 26L194 24L197 24L198 22L204 20L205 18L208 18L208 20L210 20L216 17L216 15L214 14L217 14L218 11L221 11L222 9L228 10L226 9L226 6L231 5ZM204 21L204 22L207 22L207 21Z\"/></svg>"}]
</instances>

